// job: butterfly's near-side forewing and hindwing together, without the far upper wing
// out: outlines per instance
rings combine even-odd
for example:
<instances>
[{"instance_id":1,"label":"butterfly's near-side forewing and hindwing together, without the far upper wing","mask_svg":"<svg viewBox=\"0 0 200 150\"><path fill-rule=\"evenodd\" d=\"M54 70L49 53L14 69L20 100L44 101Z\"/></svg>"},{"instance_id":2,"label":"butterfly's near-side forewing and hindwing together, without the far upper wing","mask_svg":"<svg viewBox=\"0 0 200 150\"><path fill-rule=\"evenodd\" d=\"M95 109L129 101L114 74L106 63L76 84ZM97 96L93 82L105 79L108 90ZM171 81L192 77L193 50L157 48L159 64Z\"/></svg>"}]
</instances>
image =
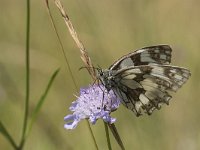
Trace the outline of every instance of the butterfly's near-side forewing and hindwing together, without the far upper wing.
<instances>
[{"instance_id":1,"label":"butterfly's near-side forewing and hindwing together, without the far upper wing","mask_svg":"<svg viewBox=\"0 0 200 150\"><path fill-rule=\"evenodd\" d=\"M190 71L170 65L142 65L118 70L114 92L136 116L151 114L171 99L168 91L176 92L189 78Z\"/></svg>"}]
</instances>

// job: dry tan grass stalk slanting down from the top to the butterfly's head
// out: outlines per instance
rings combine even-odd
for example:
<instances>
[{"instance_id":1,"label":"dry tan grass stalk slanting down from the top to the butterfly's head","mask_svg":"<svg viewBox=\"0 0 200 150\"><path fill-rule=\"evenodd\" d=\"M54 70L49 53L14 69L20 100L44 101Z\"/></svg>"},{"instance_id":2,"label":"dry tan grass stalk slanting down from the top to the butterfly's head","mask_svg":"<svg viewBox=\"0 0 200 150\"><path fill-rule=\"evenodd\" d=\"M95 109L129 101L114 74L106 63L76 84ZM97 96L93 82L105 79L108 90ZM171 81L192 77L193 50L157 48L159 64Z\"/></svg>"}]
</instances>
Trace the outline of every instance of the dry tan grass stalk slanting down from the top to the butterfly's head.
<instances>
[{"instance_id":1,"label":"dry tan grass stalk slanting down from the top to the butterfly's head","mask_svg":"<svg viewBox=\"0 0 200 150\"><path fill-rule=\"evenodd\" d=\"M91 59L88 56L88 53L83 45L83 43L79 40L78 35L73 27L72 22L69 19L69 16L67 15L67 13L65 12L60 0L54 0L56 6L58 7L58 9L60 10L60 13L69 29L69 32L72 36L72 38L74 39L74 41L76 42L76 45L78 46L78 48L80 49L81 52L81 59L85 64L85 67L87 68L89 74L92 76L92 78L95 80L96 79L96 74L95 74L95 70L94 67L92 65Z\"/></svg>"}]
</instances>

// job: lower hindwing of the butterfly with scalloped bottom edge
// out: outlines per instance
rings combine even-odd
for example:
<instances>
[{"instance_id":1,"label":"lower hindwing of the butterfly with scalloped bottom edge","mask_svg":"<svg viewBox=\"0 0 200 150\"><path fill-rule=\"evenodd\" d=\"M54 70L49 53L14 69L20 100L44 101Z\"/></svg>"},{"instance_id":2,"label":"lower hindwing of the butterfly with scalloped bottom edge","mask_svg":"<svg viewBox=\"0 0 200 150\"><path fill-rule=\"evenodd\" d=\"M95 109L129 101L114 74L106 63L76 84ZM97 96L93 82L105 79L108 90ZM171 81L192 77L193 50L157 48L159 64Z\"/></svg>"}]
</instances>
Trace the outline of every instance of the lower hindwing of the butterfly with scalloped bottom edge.
<instances>
[{"instance_id":1,"label":"lower hindwing of the butterfly with scalloped bottom edge","mask_svg":"<svg viewBox=\"0 0 200 150\"><path fill-rule=\"evenodd\" d=\"M122 104L132 110L136 116L143 113L151 115L153 110L160 109L163 103L168 104L171 96L167 92L159 89L138 88L130 89L129 87L117 87L115 93L122 99Z\"/></svg>"}]
</instances>

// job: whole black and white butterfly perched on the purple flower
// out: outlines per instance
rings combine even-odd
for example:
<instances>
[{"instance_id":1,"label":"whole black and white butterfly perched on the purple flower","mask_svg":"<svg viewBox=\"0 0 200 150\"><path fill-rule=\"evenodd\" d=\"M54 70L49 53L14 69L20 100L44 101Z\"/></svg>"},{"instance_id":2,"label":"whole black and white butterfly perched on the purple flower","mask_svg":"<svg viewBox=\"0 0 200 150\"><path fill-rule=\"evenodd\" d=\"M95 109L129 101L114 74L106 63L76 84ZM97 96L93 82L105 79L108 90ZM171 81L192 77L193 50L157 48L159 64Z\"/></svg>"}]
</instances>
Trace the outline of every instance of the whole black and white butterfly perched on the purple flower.
<instances>
[{"instance_id":1,"label":"whole black and white butterfly perched on the purple flower","mask_svg":"<svg viewBox=\"0 0 200 150\"><path fill-rule=\"evenodd\" d=\"M172 98L169 92L176 92L191 75L186 68L169 65L171 52L169 45L138 49L108 69L98 69L98 78L136 116L151 115L162 104L168 105Z\"/></svg>"}]
</instances>

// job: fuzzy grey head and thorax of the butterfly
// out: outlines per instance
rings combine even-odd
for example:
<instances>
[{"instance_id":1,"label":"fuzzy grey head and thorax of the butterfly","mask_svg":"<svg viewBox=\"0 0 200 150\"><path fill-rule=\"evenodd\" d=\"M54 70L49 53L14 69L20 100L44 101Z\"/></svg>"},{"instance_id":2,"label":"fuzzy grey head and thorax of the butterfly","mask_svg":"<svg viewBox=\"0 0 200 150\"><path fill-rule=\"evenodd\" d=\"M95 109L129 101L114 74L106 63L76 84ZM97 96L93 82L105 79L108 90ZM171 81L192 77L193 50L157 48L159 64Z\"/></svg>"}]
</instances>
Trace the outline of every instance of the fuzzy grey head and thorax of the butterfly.
<instances>
[{"instance_id":1,"label":"fuzzy grey head and thorax of the butterfly","mask_svg":"<svg viewBox=\"0 0 200 150\"><path fill-rule=\"evenodd\" d=\"M115 85L115 72L116 71L114 70L98 70L98 78L108 91L110 91Z\"/></svg>"}]
</instances>

